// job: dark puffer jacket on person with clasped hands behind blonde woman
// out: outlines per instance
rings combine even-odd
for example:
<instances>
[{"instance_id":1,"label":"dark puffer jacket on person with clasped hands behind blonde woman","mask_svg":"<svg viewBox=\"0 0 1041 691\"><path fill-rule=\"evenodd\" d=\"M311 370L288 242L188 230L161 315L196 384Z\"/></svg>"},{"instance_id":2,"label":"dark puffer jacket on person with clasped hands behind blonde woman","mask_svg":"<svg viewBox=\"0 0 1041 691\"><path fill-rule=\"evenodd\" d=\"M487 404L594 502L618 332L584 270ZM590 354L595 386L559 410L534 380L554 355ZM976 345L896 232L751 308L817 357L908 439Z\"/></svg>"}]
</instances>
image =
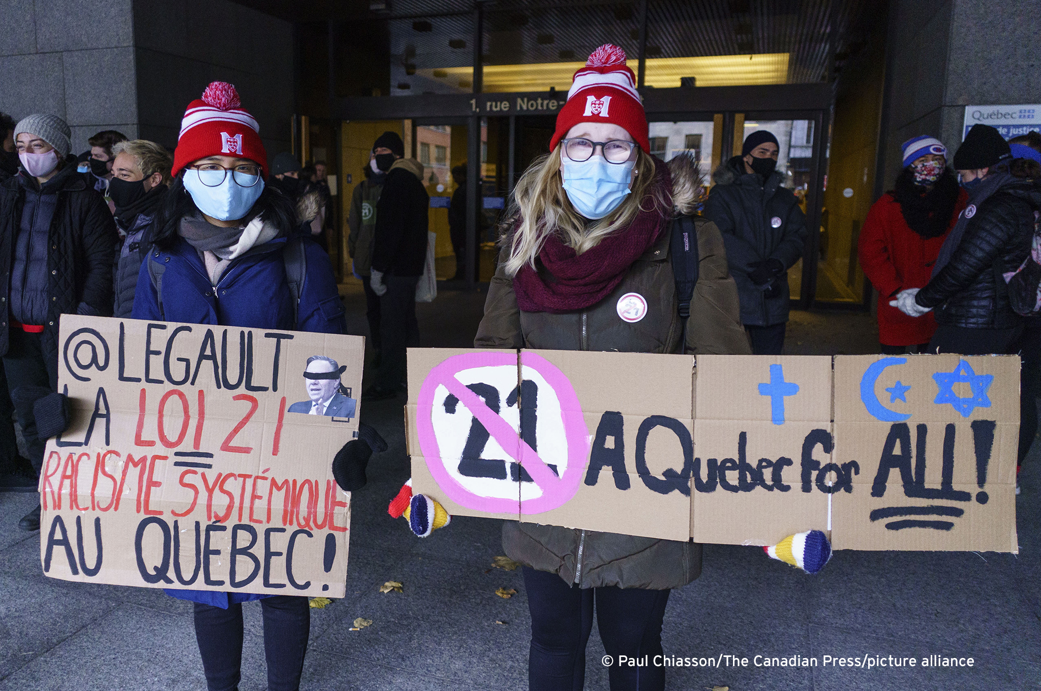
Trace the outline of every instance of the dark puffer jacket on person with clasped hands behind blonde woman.
<instances>
[{"instance_id":1,"label":"dark puffer jacket on person with clasped hands behind blonde woman","mask_svg":"<svg viewBox=\"0 0 1041 691\"><path fill-rule=\"evenodd\" d=\"M741 297L741 323L768 327L788 321L788 273L799 257L809 234L798 200L781 186L775 172L763 183L755 173L744 172L740 156L734 156L712 174L716 183L705 202L705 215L722 233L730 273ZM763 286L748 278L753 262L777 259L785 271L776 279L781 290L767 298Z\"/></svg>"}]
</instances>

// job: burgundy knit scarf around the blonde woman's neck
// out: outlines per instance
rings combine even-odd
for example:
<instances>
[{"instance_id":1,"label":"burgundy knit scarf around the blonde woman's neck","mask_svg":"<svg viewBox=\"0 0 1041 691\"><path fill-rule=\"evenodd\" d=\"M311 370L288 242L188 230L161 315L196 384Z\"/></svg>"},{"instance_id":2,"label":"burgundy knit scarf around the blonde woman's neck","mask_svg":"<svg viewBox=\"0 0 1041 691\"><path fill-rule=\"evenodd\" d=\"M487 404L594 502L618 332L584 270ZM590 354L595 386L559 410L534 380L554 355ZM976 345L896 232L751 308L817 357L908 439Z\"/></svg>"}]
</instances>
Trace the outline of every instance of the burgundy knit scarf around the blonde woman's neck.
<instances>
[{"instance_id":1,"label":"burgundy knit scarf around the blonde woman's neck","mask_svg":"<svg viewBox=\"0 0 1041 691\"><path fill-rule=\"evenodd\" d=\"M621 282L633 262L643 256L665 228L668 211L656 207L654 196L672 205L668 168L655 159L655 179L640 202L633 223L603 238L596 247L576 254L557 234L545 240L535 264L513 277L513 291L523 312L569 312L595 305ZM650 209L650 210L644 210Z\"/></svg>"}]
</instances>

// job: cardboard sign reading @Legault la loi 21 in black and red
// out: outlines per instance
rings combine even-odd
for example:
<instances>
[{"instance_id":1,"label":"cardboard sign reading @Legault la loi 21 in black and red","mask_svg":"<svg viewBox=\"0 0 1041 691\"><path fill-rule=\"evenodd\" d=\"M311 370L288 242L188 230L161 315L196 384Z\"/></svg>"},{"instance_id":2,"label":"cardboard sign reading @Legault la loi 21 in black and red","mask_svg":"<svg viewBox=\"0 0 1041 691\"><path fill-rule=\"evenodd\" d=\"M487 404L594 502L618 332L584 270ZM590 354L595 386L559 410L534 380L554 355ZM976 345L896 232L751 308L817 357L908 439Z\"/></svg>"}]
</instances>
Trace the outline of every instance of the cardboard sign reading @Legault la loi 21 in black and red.
<instances>
[{"instance_id":1,"label":"cardboard sign reading @Legault la loi 21 in black and red","mask_svg":"<svg viewBox=\"0 0 1041 691\"><path fill-rule=\"evenodd\" d=\"M70 428L41 474L44 572L341 597L358 336L66 314Z\"/></svg>"}]
</instances>

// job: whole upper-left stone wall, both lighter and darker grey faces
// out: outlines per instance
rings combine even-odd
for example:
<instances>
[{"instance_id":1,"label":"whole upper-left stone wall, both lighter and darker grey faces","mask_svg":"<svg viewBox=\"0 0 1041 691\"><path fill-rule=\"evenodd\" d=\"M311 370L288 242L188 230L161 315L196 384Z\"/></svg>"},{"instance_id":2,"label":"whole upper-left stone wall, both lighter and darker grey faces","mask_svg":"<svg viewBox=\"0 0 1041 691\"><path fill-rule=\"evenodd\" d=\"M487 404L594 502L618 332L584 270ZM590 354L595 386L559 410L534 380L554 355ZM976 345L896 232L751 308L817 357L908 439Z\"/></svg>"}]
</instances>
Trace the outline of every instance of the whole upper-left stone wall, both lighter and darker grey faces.
<instances>
[{"instance_id":1,"label":"whole upper-left stone wall, both lighter and darker grey faces","mask_svg":"<svg viewBox=\"0 0 1041 691\"><path fill-rule=\"evenodd\" d=\"M210 81L230 81L270 155L290 147L293 25L228 0L0 0L0 110L52 112L73 152L103 129L177 144Z\"/></svg>"}]
</instances>

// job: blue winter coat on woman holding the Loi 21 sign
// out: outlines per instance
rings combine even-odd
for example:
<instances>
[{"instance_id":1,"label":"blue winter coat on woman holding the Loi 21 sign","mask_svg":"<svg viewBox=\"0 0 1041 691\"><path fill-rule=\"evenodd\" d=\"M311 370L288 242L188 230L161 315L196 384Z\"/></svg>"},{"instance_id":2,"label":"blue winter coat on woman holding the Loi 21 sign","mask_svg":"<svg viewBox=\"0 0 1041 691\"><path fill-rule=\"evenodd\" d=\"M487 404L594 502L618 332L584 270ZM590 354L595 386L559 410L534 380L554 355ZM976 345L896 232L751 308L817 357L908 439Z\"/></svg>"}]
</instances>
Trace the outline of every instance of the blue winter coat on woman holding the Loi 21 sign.
<instances>
[{"instance_id":1,"label":"blue winter coat on woman holding the Loi 21 sign","mask_svg":"<svg viewBox=\"0 0 1041 691\"><path fill-rule=\"evenodd\" d=\"M137 276L133 318L249 329L344 333L347 330L344 303L339 300L329 255L310 239L304 240L307 274L300 291L299 321L297 324L293 323L293 299L286 285L285 263L282 259L282 248L286 241L284 237L276 237L233 260L221 276L215 291L199 253L183 238L178 238L171 250L153 247L148 261L166 265L162 274L162 310L159 309L146 261L142 263ZM272 286L277 287L273 290ZM236 603L270 596L218 590L166 589L166 592L180 599L224 609Z\"/></svg>"}]
</instances>

